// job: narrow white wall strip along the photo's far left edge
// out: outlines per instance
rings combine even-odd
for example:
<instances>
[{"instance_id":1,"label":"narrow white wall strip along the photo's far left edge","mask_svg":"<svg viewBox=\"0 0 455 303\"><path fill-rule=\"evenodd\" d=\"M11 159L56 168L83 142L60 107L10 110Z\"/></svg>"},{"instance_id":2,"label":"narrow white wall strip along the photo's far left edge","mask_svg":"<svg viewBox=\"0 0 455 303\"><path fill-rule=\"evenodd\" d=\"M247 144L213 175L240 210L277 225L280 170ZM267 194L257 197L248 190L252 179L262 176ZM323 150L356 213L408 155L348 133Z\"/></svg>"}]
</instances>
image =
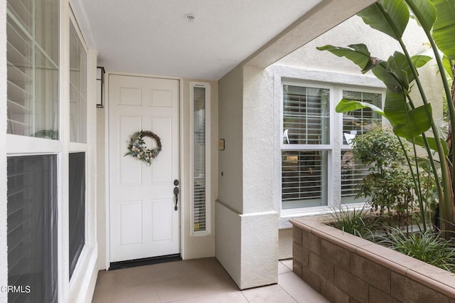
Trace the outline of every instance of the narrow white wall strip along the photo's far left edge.
<instances>
[{"instance_id":1,"label":"narrow white wall strip along the photo's far left edge","mask_svg":"<svg viewBox=\"0 0 455 303\"><path fill-rule=\"evenodd\" d=\"M0 287L8 285L6 238L6 0L0 1ZM0 292L0 302L8 294Z\"/></svg>"}]
</instances>

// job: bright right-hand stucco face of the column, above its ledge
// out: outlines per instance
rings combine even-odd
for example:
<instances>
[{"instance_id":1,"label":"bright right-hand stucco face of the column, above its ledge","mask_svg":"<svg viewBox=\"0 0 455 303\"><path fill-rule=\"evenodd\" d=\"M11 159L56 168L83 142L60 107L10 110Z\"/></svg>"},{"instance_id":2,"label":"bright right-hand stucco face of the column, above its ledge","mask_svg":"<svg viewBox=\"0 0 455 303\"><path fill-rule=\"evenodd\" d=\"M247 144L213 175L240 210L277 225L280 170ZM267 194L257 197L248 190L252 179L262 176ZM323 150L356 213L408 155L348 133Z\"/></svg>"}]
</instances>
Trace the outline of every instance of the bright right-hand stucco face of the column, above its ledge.
<instances>
[{"instance_id":1,"label":"bright right-hand stucco face of the column, above its ledge","mask_svg":"<svg viewBox=\"0 0 455 303\"><path fill-rule=\"evenodd\" d=\"M273 68L245 68L243 78L243 213L274 211Z\"/></svg>"}]
</instances>

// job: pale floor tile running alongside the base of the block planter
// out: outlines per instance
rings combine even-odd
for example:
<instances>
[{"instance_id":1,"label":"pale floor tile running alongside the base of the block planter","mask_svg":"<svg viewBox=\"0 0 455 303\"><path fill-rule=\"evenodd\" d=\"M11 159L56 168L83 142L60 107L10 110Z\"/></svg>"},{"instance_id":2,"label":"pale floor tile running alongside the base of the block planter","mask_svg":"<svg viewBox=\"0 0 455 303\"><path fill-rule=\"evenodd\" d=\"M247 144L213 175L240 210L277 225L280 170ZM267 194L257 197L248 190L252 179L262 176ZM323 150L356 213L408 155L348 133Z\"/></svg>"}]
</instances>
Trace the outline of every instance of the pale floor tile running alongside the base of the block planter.
<instances>
[{"instance_id":1,"label":"pale floor tile running alongside the base of the block planter","mask_svg":"<svg viewBox=\"0 0 455 303\"><path fill-rule=\"evenodd\" d=\"M304 303L329 303L319 292L312 289L303 280L299 278L294 272L287 272L278 276L278 284L290 294L296 302Z\"/></svg>"}]
</instances>

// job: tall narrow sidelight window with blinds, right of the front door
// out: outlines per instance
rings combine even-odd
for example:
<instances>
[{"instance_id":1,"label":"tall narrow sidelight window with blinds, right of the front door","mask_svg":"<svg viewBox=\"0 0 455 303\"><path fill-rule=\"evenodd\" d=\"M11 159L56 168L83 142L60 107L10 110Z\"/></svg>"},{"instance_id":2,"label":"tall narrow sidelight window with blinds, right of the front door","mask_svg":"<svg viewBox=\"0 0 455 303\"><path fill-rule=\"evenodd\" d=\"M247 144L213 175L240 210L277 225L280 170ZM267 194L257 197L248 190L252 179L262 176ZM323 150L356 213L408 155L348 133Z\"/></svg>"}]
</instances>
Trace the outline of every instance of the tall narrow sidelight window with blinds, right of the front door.
<instances>
[{"instance_id":1,"label":"tall narrow sidelight window with blinds, right of the front door","mask_svg":"<svg viewBox=\"0 0 455 303\"><path fill-rule=\"evenodd\" d=\"M192 227L191 235L210 234L210 86L191 83Z\"/></svg>"}]
</instances>

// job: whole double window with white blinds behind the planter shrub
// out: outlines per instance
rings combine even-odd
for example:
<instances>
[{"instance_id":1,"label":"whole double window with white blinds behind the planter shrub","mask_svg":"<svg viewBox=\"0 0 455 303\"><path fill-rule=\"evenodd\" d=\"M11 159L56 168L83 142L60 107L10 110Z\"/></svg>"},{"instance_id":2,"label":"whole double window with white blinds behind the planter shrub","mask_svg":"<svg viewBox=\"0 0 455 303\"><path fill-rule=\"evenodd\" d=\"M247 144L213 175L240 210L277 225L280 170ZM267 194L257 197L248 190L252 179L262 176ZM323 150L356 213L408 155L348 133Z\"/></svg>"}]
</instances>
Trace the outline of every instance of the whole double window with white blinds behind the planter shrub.
<instances>
[{"instance_id":1,"label":"whole double window with white blinds behind the planter shrub","mask_svg":"<svg viewBox=\"0 0 455 303\"><path fill-rule=\"evenodd\" d=\"M382 107L381 90L294 80L282 81L282 89L282 210L365 202L356 196L370 171L353 159L350 139L380 125L381 116L333 108L341 98Z\"/></svg>"}]
</instances>

